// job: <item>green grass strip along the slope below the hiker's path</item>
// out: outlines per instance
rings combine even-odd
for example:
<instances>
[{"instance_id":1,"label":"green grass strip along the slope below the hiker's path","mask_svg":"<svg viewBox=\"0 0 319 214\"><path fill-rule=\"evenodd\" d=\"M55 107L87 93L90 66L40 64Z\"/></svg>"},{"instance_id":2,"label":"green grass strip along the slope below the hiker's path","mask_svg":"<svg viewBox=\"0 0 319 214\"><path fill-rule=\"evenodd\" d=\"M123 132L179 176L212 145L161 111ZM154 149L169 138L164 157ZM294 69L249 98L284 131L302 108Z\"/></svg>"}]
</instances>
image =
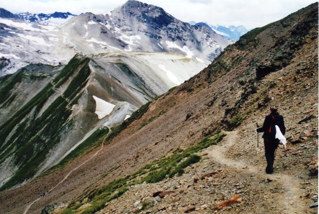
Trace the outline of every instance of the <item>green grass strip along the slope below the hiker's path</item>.
<instances>
[{"instance_id":1,"label":"green grass strip along the slope below the hiker's path","mask_svg":"<svg viewBox=\"0 0 319 214\"><path fill-rule=\"evenodd\" d=\"M166 178L173 176L181 176L184 169L192 164L200 161L201 157L194 154L211 145L216 145L222 140L225 134L215 132L214 134L203 138L197 144L188 147L187 149L176 149L172 154L163 157L160 160L154 161L151 164L145 165L139 171L110 182L109 184L85 193L79 198L79 201L88 200L89 207L79 209L79 204L71 202L68 209L63 211L63 214L91 214L102 210L105 204L113 199L116 199L128 191L128 187L135 184L157 183ZM145 202L143 208L152 206L152 203Z\"/></svg>"}]
</instances>

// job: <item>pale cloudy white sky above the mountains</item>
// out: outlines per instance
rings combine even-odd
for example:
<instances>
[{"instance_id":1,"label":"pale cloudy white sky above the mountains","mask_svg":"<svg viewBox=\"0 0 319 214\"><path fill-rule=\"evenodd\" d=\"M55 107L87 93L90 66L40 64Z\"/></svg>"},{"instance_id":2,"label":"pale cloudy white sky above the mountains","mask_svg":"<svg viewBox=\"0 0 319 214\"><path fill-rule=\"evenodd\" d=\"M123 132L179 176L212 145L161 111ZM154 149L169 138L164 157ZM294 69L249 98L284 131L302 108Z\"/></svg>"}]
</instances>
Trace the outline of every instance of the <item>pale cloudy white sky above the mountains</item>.
<instances>
[{"instance_id":1,"label":"pale cloudy white sky above the mountains","mask_svg":"<svg viewBox=\"0 0 319 214\"><path fill-rule=\"evenodd\" d=\"M71 12L95 14L111 11L127 0L0 0L13 13ZM162 7L184 22L212 25L243 25L247 29L280 20L318 0L140 0Z\"/></svg>"}]
</instances>

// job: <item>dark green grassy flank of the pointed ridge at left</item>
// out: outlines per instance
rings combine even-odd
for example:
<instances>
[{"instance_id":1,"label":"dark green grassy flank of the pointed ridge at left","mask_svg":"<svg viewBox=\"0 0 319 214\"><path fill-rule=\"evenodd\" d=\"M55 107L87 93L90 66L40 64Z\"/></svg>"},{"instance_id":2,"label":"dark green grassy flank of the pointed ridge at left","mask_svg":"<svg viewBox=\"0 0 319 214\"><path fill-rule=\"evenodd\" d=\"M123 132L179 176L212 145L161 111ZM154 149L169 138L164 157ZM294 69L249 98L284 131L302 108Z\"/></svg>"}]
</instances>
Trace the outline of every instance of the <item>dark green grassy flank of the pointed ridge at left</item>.
<instances>
[{"instance_id":1,"label":"dark green grassy flank of the pointed ridge at left","mask_svg":"<svg viewBox=\"0 0 319 214\"><path fill-rule=\"evenodd\" d=\"M52 80L55 87L61 86L72 74L75 73L75 75L63 97L57 97L42 115L37 116L37 113L30 114L30 112L32 110L38 112L47 99L55 93L51 83L0 126L0 139L6 139L16 127L10 137L5 142L1 142L0 148L5 149L8 146L14 148L14 151L11 149L6 153L14 153L14 163L19 168L0 190L32 178L48 152L60 142L63 130L72 126L72 120L68 120L72 111L68 108L69 103L64 97L72 101L85 86L90 75L90 69L87 66L89 61L89 58L74 57L58 73ZM3 155L0 155L1 162L5 160Z\"/></svg>"}]
</instances>

